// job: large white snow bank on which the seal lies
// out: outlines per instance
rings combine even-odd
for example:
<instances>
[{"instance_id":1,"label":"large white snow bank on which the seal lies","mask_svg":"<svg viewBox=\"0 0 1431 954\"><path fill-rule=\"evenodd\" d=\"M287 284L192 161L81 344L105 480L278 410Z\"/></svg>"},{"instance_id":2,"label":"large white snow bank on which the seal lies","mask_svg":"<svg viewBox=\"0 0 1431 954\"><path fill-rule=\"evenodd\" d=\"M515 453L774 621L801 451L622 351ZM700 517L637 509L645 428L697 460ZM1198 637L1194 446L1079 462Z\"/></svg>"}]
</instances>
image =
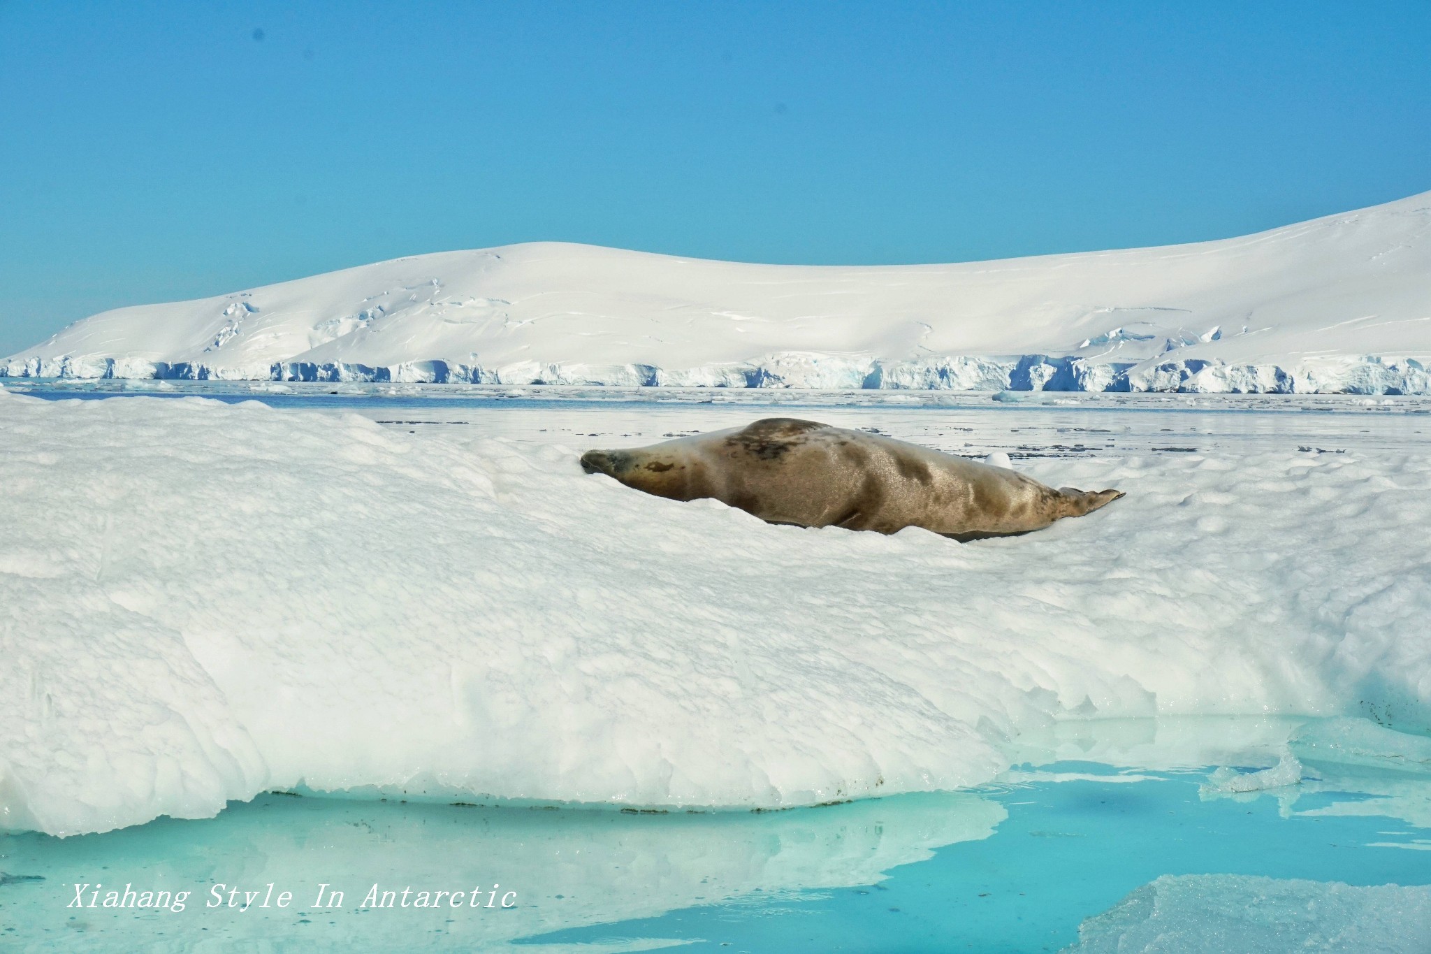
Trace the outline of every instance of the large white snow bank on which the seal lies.
<instances>
[{"instance_id":1,"label":"large white snow bank on which the seal lies","mask_svg":"<svg viewBox=\"0 0 1431 954\"><path fill-rule=\"evenodd\" d=\"M806 805L979 784L1110 717L1431 728L1422 455L1050 461L1129 496L957 545L256 402L0 392L0 448L11 828L301 785Z\"/></svg>"}]
</instances>

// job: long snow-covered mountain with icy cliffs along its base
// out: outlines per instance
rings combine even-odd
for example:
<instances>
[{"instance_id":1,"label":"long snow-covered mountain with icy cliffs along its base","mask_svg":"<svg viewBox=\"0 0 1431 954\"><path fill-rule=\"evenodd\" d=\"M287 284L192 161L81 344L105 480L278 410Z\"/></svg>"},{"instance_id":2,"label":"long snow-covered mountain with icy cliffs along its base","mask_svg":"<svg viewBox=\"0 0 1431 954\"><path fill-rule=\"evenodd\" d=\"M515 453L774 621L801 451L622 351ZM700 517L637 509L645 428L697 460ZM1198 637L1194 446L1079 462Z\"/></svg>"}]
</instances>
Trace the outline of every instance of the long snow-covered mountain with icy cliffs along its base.
<instances>
[{"instance_id":1,"label":"long snow-covered mountain with icy cliffs along its base","mask_svg":"<svg viewBox=\"0 0 1431 954\"><path fill-rule=\"evenodd\" d=\"M0 375L1431 393L1431 192L1195 245L776 266L538 242L76 322Z\"/></svg>"}]
</instances>

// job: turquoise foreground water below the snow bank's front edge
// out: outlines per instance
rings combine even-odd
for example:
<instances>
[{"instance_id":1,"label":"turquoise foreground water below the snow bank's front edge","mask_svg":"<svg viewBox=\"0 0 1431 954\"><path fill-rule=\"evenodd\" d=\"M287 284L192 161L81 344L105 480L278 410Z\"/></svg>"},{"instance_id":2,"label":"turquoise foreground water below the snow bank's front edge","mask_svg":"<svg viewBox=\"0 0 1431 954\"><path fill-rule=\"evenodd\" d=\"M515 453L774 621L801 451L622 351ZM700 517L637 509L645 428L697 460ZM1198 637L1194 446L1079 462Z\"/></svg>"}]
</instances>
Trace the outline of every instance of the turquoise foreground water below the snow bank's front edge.
<instances>
[{"instance_id":1,"label":"turquoise foreground water below the snow bank's front edge","mask_svg":"<svg viewBox=\"0 0 1431 954\"><path fill-rule=\"evenodd\" d=\"M1291 725L1191 722L1206 745ZM1103 744L1156 729L1123 725ZM1259 759L1245 769L1265 765L1245 751ZM756 814L269 794L209 821L0 838L0 938L80 951L1058 951L1159 875L1431 884L1431 767L1308 762L1295 785L1235 795L1209 788L1212 768L1063 759L969 792ZM182 911L66 907L76 884L103 885L86 901L126 885L192 894ZM455 908L451 894L404 908L404 888L409 903L464 894ZM395 907L369 903L389 890ZM243 891L256 892L248 910ZM1224 900L1229 913L1241 901Z\"/></svg>"}]
</instances>

